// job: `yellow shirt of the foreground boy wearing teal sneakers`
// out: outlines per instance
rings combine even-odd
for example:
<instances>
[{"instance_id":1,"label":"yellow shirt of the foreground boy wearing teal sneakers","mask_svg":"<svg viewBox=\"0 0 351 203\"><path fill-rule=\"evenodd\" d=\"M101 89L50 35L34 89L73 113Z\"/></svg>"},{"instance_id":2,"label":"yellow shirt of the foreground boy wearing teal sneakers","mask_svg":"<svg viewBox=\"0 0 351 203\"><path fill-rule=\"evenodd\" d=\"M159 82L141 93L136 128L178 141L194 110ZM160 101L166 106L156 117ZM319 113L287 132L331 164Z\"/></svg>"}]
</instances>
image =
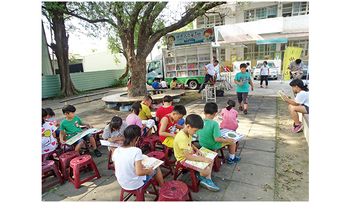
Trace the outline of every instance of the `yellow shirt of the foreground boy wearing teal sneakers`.
<instances>
[{"instance_id":1,"label":"yellow shirt of the foreground boy wearing teal sneakers","mask_svg":"<svg viewBox=\"0 0 351 203\"><path fill-rule=\"evenodd\" d=\"M179 162L186 159L183 149L188 149L189 153L192 152L192 136L188 136L183 130L180 130L175 135L173 143L174 156Z\"/></svg>"}]
</instances>

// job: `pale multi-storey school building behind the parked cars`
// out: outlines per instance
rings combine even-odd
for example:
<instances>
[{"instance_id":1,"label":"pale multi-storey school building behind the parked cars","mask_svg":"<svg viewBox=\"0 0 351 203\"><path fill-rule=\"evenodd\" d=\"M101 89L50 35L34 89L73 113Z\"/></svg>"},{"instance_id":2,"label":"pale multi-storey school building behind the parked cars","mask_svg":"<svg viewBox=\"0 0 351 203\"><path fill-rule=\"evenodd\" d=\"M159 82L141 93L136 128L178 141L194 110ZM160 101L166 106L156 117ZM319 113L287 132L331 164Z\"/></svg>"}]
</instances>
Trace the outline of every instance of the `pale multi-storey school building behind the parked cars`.
<instances>
[{"instance_id":1,"label":"pale multi-storey school building behind the parked cars","mask_svg":"<svg viewBox=\"0 0 351 203\"><path fill-rule=\"evenodd\" d=\"M253 1L214 8L215 14L198 17L194 29L216 26L225 41L221 60L284 58L287 46L302 47L300 58L308 59L308 1ZM245 46L243 46L245 45Z\"/></svg>"}]
</instances>

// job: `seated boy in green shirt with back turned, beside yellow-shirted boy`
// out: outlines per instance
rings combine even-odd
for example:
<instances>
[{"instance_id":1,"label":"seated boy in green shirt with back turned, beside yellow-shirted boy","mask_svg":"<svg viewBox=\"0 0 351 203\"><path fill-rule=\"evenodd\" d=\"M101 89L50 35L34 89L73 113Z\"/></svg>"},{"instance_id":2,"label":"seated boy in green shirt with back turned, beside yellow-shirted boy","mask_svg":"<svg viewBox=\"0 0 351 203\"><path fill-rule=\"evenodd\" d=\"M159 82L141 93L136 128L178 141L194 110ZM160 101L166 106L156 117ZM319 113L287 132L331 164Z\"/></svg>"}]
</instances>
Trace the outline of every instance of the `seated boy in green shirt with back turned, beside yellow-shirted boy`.
<instances>
[{"instance_id":1,"label":"seated boy in green shirt with back turned, beside yellow-shirted boy","mask_svg":"<svg viewBox=\"0 0 351 203\"><path fill-rule=\"evenodd\" d=\"M235 140L232 138L224 138L221 135L221 130L217 121L213 120L218 111L218 106L215 102L208 102L204 107L204 128L198 131L199 143L201 146L214 150L228 145L229 158L228 163L240 161L239 156L235 156Z\"/></svg>"}]
</instances>

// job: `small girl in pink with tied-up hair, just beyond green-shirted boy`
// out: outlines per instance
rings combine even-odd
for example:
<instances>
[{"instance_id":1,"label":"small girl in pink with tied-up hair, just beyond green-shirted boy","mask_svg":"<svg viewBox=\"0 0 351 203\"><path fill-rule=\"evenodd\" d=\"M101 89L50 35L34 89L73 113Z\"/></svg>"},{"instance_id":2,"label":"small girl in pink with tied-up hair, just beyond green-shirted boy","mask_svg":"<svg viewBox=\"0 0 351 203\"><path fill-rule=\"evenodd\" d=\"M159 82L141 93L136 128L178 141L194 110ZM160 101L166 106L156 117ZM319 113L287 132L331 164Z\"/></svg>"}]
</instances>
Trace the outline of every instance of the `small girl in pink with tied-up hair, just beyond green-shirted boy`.
<instances>
[{"instance_id":1,"label":"small girl in pink with tied-up hair, just beyond green-shirted boy","mask_svg":"<svg viewBox=\"0 0 351 203\"><path fill-rule=\"evenodd\" d=\"M221 115L223 116L223 121L220 123L221 128L237 130L238 128L238 111L235 109L235 101L229 99L227 101L227 106L222 109Z\"/></svg>"}]
</instances>

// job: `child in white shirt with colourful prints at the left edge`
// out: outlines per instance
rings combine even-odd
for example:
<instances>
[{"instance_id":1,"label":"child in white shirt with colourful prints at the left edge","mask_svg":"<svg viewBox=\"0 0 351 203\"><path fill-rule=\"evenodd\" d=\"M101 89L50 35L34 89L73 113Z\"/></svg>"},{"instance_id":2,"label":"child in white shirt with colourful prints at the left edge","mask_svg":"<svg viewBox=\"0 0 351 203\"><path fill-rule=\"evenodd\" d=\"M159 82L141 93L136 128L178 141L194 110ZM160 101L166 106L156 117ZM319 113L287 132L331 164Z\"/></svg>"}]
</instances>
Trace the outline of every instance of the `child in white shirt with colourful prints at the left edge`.
<instances>
[{"instance_id":1,"label":"child in white shirt with colourful prints at the left edge","mask_svg":"<svg viewBox=\"0 0 351 203\"><path fill-rule=\"evenodd\" d=\"M49 153L57 148L57 139L55 138L57 127L52 122L45 122L47 115L48 111L42 108L42 154Z\"/></svg>"}]
</instances>

